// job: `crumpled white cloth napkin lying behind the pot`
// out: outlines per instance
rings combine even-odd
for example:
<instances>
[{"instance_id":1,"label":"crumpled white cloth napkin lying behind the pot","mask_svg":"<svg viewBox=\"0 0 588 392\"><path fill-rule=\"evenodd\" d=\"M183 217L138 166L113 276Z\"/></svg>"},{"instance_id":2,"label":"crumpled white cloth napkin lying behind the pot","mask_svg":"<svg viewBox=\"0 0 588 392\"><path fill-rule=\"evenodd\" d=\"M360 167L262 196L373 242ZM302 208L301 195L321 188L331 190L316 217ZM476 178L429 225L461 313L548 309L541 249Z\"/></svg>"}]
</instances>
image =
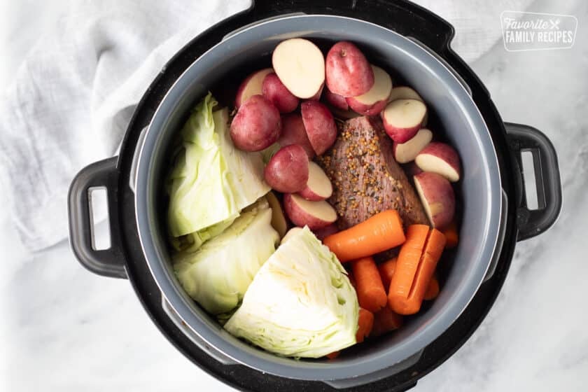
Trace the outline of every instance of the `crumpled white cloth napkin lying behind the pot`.
<instances>
[{"instance_id":1,"label":"crumpled white cloth napkin lying behind the pot","mask_svg":"<svg viewBox=\"0 0 588 392\"><path fill-rule=\"evenodd\" d=\"M503 10L530 0L419 0L456 27L472 62L500 39ZM38 38L0 101L0 181L29 250L67 236L66 195L85 165L116 155L134 106L174 53L249 0L73 1Z\"/></svg>"}]
</instances>

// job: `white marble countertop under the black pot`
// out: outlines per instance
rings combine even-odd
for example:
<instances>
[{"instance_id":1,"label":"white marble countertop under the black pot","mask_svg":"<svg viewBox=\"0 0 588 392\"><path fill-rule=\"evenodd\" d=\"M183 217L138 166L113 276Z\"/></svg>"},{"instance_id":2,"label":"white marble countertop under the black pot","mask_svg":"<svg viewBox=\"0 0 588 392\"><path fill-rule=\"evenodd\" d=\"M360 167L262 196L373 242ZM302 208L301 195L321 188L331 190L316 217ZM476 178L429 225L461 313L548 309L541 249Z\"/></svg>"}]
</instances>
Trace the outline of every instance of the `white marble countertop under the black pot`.
<instances>
[{"instance_id":1,"label":"white marble countertop under the black pot","mask_svg":"<svg viewBox=\"0 0 588 392\"><path fill-rule=\"evenodd\" d=\"M22 3L23 9L33 9L33 2ZM505 1L504 8L509 6ZM507 52L497 41L471 65L504 120L533 125L553 141L563 211L551 230L518 244L484 323L454 356L419 381L415 392L587 390L588 6L581 0L540 0L531 8L575 15L579 25L573 48ZM51 22L50 12L35 12L43 18L27 26L24 35L8 34L18 22L3 27L8 33L0 49L13 55L4 63L2 81L18 66L23 45ZM499 29L495 16L492 23ZM9 212L0 209L0 390L231 390L167 342L128 281L87 272L66 241L28 253Z\"/></svg>"}]
</instances>

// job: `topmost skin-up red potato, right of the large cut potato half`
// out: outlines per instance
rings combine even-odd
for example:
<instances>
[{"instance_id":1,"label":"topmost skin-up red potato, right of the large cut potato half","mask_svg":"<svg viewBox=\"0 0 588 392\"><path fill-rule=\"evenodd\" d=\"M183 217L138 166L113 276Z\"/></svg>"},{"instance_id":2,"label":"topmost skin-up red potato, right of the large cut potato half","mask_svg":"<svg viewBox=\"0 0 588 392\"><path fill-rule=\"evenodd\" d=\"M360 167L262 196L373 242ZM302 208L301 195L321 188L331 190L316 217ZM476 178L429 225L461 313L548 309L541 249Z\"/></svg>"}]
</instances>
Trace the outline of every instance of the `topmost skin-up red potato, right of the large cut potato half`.
<instances>
[{"instance_id":1,"label":"topmost skin-up red potato, right of the large cut potato half","mask_svg":"<svg viewBox=\"0 0 588 392\"><path fill-rule=\"evenodd\" d=\"M332 45L325 60L327 87L343 97L357 97L374 85L374 71L363 53L351 42Z\"/></svg>"}]
</instances>

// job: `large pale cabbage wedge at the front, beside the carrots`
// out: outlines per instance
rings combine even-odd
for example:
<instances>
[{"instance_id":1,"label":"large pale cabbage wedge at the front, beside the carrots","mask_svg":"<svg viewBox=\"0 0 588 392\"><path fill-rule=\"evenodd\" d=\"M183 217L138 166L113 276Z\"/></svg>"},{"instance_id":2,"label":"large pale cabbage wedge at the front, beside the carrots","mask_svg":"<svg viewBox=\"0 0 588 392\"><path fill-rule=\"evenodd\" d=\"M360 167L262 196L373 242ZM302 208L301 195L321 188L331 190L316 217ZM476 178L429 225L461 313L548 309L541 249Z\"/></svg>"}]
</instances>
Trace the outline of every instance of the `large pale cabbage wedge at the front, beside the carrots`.
<instances>
[{"instance_id":1,"label":"large pale cabbage wedge at the front, beside the carrots","mask_svg":"<svg viewBox=\"0 0 588 392\"><path fill-rule=\"evenodd\" d=\"M318 358L356 343L358 312L345 269L304 228L260 268L224 328L272 353Z\"/></svg>"}]
</instances>

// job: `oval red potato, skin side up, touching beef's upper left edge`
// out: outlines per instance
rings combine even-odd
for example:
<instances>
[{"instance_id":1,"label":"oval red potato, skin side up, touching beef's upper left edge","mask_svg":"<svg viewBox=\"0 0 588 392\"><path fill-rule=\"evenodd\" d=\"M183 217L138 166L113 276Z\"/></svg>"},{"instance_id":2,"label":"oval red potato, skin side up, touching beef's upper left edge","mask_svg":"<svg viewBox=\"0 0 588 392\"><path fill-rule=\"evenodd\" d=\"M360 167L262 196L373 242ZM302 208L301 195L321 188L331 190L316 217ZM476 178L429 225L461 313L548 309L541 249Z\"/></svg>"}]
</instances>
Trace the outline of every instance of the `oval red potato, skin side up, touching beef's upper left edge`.
<instances>
[{"instance_id":1,"label":"oval red potato, skin side up, touching beef's upper left edge","mask_svg":"<svg viewBox=\"0 0 588 392\"><path fill-rule=\"evenodd\" d=\"M316 155L321 155L335 143L337 125L327 106L318 101L304 101L300 105L302 121Z\"/></svg>"}]
</instances>

